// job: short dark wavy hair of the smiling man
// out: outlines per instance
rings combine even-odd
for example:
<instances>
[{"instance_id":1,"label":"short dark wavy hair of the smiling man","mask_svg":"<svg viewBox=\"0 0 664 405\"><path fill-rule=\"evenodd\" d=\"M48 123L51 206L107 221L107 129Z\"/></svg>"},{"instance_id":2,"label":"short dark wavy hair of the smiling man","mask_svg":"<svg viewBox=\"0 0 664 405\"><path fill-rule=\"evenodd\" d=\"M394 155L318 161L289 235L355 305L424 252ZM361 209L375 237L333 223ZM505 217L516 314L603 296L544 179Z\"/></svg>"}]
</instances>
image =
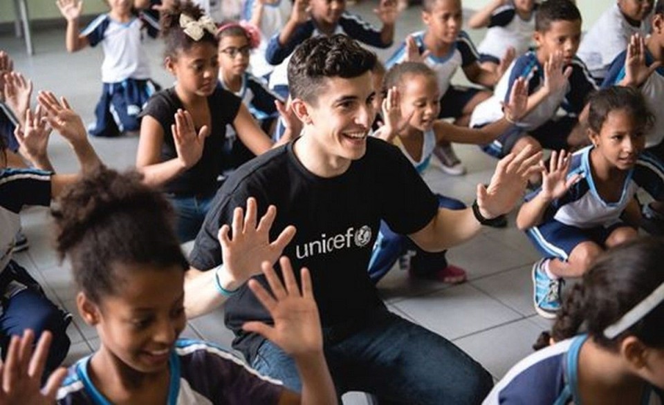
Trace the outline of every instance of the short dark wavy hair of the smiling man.
<instances>
[{"instance_id":1,"label":"short dark wavy hair of the smiling man","mask_svg":"<svg viewBox=\"0 0 664 405\"><path fill-rule=\"evenodd\" d=\"M295 48L288 62L288 88L291 97L315 103L324 79L358 77L375 64L376 54L347 35L310 38Z\"/></svg>"}]
</instances>

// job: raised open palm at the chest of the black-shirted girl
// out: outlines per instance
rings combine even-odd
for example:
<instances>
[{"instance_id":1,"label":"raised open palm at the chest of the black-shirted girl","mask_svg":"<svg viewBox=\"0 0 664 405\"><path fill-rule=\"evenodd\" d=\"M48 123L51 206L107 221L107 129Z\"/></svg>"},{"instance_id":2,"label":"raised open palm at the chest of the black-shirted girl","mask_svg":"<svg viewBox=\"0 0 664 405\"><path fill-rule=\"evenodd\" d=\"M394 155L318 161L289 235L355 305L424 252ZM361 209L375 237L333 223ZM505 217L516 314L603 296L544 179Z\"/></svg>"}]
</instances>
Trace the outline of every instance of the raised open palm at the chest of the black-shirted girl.
<instances>
[{"instance_id":1,"label":"raised open palm at the chest of the black-shirted girl","mask_svg":"<svg viewBox=\"0 0 664 405\"><path fill-rule=\"evenodd\" d=\"M175 124L171 125L171 133L175 142L178 159L184 167L189 169L198 163L203 156L205 138L210 135L210 129L203 125L198 133L194 127L194 119L189 111L178 109L175 113Z\"/></svg>"}]
</instances>

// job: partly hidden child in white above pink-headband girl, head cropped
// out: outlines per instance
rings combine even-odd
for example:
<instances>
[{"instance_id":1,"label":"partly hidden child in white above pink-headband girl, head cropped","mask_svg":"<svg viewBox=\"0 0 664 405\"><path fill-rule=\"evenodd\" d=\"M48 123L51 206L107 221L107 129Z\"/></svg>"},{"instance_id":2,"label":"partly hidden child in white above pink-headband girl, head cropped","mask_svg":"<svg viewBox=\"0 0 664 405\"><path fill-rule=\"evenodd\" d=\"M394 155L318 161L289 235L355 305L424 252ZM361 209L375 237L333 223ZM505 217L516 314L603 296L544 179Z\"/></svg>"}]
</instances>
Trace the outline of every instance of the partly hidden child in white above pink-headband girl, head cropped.
<instances>
[{"instance_id":1,"label":"partly hidden child in white above pink-headband girl, head cropped","mask_svg":"<svg viewBox=\"0 0 664 405\"><path fill-rule=\"evenodd\" d=\"M259 45L251 52L250 66L254 75L267 78L274 70L265 58L268 43L286 25L292 10L292 0L243 1L241 19L258 27L261 34Z\"/></svg>"}]
</instances>

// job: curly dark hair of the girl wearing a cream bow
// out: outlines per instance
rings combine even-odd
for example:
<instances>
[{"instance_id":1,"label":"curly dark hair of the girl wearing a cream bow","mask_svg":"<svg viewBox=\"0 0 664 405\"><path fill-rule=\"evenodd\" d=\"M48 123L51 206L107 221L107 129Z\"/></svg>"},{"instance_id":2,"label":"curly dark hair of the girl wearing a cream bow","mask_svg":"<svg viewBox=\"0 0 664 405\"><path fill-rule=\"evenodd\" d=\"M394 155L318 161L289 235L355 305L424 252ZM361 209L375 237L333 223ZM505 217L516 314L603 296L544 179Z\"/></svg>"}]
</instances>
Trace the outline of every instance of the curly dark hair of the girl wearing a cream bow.
<instances>
[{"instance_id":1,"label":"curly dark hair of the girl wearing a cream bow","mask_svg":"<svg viewBox=\"0 0 664 405\"><path fill-rule=\"evenodd\" d=\"M180 16L186 15L194 21L199 21L205 15L200 6L192 3L190 0L176 1L172 9L163 10L160 17L161 36L164 39L164 56L177 57L179 52L189 50L194 44L208 42L215 47L219 45L219 40L214 32L203 30L203 37L194 40L187 35L180 24Z\"/></svg>"}]
</instances>

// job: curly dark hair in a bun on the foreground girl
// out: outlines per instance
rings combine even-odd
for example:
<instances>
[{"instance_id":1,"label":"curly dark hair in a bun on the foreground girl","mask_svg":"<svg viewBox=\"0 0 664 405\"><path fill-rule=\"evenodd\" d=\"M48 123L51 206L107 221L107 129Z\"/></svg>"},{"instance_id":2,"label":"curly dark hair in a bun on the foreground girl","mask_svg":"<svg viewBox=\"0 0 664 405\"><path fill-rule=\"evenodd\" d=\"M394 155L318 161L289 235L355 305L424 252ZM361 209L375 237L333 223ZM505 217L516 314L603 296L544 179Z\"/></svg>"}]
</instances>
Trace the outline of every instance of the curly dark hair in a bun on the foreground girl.
<instances>
[{"instance_id":1,"label":"curly dark hair in a bun on the foreground girl","mask_svg":"<svg viewBox=\"0 0 664 405\"><path fill-rule=\"evenodd\" d=\"M68 187L52 210L56 249L91 300L118 292L118 264L189 265L173 230L172 208L140 174L99 167Z\"/></svg>"}]
</instances>

